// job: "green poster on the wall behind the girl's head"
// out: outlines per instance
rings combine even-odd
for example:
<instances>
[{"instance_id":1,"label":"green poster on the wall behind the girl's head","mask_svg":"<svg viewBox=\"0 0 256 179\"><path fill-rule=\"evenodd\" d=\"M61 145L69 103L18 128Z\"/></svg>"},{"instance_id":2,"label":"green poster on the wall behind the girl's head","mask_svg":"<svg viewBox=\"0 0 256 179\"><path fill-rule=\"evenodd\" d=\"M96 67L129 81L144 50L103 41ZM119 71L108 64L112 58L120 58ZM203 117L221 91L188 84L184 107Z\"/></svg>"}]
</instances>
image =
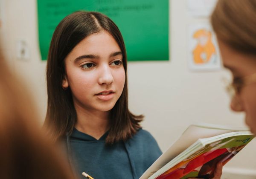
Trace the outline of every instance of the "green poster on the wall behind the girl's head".
<instances>
[{"instance_id":1,"label":"green poster on the wall behind the girl's head","mask_svg":"<svg viewBox=\"0 0 256 179\"><path fill-rule=\"evenodd\" d=\"M78 10L102 12L122 32L128 61L169 60L169 0L38 0L42 59L58 23Z\"/></svg>"}]
</instances>

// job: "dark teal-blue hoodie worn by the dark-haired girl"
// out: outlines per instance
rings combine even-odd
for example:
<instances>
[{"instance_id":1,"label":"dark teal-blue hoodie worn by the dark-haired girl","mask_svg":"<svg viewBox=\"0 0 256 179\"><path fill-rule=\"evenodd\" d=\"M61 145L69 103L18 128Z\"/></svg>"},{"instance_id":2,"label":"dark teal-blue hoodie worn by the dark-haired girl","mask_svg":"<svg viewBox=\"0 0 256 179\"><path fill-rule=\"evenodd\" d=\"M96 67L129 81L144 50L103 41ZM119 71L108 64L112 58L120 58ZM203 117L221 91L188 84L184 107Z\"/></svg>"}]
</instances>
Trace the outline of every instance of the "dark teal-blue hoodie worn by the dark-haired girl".
<instances>
[{"instance_id":1,"label":"dark teal-blue hoodie worn by the dark-haired girl","mask_svg":"<svg viewBox=\"0 0 256 179\"><path fill-rule=\"evenodd\" d=\"M94 179L138 179L162 154L153 136L143 129L113 145L105 144L107 136L108 132L97 140L73 130L67 141L68 153L81 179L82 172Z\"/></svg>"}]
</instances>

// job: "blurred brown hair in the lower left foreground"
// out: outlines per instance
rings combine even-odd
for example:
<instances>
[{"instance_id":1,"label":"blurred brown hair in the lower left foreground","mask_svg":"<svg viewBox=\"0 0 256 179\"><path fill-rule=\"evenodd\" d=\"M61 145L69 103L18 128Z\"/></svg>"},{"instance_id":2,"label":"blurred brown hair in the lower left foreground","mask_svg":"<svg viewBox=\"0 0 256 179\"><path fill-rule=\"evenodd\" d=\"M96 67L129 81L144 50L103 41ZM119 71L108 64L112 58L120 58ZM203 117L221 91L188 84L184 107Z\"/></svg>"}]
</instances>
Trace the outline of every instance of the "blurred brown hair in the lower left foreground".
<instances>
[{"instance_id":1,"label":"blurred brown hair in the lower left foreground","mask_svg":"<svg viewBox=\"0 0 256 179\"><path fill-rule=\"evenodd\" d=\"M20 81L0 57L0 178L74 179L60 150L41 131Z\"/></svg>"}]
</instances>

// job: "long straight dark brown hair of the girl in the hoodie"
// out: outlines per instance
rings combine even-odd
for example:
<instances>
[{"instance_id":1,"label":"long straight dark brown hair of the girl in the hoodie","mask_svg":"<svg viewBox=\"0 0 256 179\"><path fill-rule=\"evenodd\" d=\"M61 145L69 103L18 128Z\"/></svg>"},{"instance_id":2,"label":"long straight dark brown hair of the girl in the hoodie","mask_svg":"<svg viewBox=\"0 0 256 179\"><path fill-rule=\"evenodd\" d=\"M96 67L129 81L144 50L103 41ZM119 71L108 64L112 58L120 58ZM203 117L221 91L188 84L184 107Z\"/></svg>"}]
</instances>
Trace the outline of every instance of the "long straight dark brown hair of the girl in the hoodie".
<instances>
[{"instance_id":1,"label":"long straight dark brown hair of the girl in the hoodie","mask_svg":"<svg viewBox=\"0 0 256 179\"><path fill-rule=\"evenodd\" d=\"M127 140L140 128L143 115L133 115L128 110L127 57L125 44L118 27L111 19L98 12L74 12L65 17L55 29L47 59L48 107L46 126L57 140L71 133L76 123L76 110L70 88L62 88L65 75L64 59L84 38L100 31L107 31L118 43L123 56L125 85L122 94L111 110L111 128L106 144Z\"/></svg>"}]
</instances>

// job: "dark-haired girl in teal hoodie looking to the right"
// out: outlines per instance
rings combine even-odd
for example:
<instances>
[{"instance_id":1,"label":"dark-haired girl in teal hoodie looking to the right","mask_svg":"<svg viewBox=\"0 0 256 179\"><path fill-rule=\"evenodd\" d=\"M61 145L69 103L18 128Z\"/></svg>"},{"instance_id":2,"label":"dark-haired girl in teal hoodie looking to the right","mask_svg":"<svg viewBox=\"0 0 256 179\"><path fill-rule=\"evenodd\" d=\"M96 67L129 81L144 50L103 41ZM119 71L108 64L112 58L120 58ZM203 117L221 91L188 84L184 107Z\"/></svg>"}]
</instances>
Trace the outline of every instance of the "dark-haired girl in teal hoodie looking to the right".
<instances>
[{"instance_id":1,"label":"dark-haired girl in teal hoodie looking to the right","mask_svg":"<svg viewBox=\"0 0 256 179\"><path fill-rule=\"evenodd\" d=\"M128 110L122 35L97 12L75 12L55 29L47 60L46 125L64 139L79 176L138 179L161 155L142 115Z\"/></svg>"}]
</instances>

